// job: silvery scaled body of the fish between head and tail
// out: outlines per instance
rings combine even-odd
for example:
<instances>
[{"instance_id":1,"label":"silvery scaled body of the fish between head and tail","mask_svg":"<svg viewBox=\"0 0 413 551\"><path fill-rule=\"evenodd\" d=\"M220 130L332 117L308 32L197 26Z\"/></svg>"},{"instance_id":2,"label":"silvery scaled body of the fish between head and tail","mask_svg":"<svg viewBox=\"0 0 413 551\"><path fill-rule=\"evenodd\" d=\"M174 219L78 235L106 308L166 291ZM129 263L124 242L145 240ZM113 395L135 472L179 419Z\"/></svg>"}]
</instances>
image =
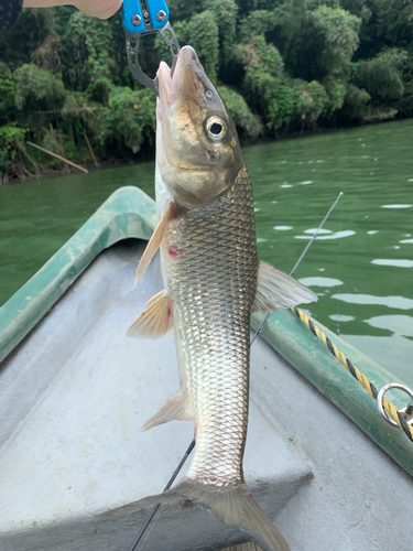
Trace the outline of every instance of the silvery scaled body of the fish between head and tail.
<instances>
[{"instance_id":1,"label":"silvery scaled body of the fish between head and tail","mask_svg":"<svg viewBox=\"0 0 413 551\"><path fill-rule=\"evenodd\" d=\"M185 213L165 239L181 250L167 259L164 273L184 358L183 386L195 411L197 445L188 476L217 486L239 483L258 272L248 171L241 170L226 195Z\"/></svg>"}]
</instances>

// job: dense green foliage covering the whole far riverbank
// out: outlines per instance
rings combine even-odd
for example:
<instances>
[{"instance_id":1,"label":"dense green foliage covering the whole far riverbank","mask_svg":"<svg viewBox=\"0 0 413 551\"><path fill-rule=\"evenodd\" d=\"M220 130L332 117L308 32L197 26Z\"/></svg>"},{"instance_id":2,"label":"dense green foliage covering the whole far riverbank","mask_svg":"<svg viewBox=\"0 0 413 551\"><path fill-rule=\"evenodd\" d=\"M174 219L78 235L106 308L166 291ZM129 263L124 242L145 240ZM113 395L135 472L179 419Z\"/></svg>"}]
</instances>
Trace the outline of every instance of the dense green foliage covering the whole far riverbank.
<instances>
[{"instance_id":1,"label":"dense green foliage covering the whole far riverbank","mask_svg":"<svg viewBox=\"0 0 413 551\"><path fill-rule=\"evenodd\" d=\"M243 141L304 128L413 116L411 0L176 0L171 22L198 53ZM78 160L128 158L153 143L155 98L132 76L121 12L108 21L74 7L23 10L0 33L0 172L29 155L24 136ZM145 35L153 77L171 63ZM25 156L28 155L28 156ZM31 164L30 164L31 163ZM23 171L24 172L24 171Z\"/></svg>"}]
</instances>

